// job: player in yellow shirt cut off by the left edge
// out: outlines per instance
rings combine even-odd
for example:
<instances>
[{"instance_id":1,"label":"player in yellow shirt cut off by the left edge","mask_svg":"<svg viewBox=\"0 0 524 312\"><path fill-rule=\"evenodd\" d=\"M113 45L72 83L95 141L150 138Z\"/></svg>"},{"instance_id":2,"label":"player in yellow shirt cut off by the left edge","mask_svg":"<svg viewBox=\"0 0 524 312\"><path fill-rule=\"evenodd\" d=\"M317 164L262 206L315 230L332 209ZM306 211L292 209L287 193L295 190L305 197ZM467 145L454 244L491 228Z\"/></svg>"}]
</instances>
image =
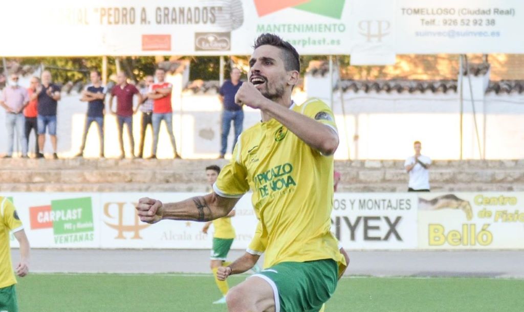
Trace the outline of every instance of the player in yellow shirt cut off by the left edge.
<instances>
[{"instance_id":1,"label":"player in yellow shirt cut off by the left edge","mask_svg":"<svg viewBox=\"0 0 524 312\"><path fill-rule=\"evenodd\" d=\"M11 263L9 232L20 243L21 259L15 269L16 275L26 276L29 272L29 241L15 206L7 197L0 196L0 311L17 312L16 278Z\"/></svg>"}]
</instances>

